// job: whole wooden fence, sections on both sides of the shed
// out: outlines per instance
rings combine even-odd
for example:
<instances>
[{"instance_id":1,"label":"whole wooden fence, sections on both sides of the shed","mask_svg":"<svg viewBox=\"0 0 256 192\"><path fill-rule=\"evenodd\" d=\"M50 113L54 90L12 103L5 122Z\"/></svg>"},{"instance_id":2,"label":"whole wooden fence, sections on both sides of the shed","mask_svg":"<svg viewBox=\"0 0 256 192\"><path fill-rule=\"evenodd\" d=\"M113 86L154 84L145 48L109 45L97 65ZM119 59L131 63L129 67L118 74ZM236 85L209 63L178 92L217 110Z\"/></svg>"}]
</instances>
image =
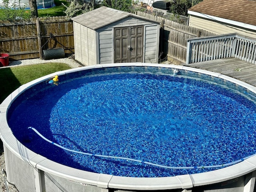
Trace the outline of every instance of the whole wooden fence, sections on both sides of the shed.
<instances>
[{"instance_id":1,"label":"whole wooden fence, sections on both sides of the shed","mask_svg":"<svg viewBox=\"0 0 256 192\"><path fill-rule=\"evenodd\" d=\"M186 62L188 39L214 35L159 16L140 11L136 14L161 23L160 60L167 59L173 64ZM0 53L8 53L10 61L40 58L42 50L60 47L66 54L74 52L73 23L64 16L27 22L0 22Z\"/></svg>"}]
</instances>

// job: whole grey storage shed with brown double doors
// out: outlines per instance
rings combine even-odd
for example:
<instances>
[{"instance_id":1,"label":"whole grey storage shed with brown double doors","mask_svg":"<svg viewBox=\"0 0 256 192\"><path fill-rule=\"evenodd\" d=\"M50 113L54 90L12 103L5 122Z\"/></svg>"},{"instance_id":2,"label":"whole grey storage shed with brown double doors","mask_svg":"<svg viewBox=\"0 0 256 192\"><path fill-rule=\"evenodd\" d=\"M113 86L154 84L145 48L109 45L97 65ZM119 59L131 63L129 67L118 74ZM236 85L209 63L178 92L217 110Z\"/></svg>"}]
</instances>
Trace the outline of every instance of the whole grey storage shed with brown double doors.
<instances>
[{"instance_id":1,"label":"whole grey storage shed with brown double doors","mask_svg":"<svg viewBox=\"0 0 256 192\"><path fill-rule=\"evenodd\" d=\"M86 66L158 62L159 22L104 6L72 20L75 59Z\"/></svg>"}]
</instances>

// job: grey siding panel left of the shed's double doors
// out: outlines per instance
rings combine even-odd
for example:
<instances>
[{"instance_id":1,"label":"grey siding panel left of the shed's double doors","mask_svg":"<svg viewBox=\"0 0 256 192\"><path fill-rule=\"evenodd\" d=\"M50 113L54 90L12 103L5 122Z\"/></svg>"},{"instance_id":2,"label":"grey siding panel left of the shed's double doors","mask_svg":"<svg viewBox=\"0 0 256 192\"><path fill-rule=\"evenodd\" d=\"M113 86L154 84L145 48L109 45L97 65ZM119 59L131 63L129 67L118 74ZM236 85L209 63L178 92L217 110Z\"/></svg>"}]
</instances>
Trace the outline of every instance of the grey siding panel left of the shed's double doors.
<instances>
[{"instance_id":1,"label":"grey siding panel left of the shed's double doors","mask_svg":"<svg viewBox=\"0 0 256 192\"><path fill-rule=\"evenodd\" d=\"M98 33L100 64L113 63L113 30L105 29Z\"/></svg>"}]
</instances>

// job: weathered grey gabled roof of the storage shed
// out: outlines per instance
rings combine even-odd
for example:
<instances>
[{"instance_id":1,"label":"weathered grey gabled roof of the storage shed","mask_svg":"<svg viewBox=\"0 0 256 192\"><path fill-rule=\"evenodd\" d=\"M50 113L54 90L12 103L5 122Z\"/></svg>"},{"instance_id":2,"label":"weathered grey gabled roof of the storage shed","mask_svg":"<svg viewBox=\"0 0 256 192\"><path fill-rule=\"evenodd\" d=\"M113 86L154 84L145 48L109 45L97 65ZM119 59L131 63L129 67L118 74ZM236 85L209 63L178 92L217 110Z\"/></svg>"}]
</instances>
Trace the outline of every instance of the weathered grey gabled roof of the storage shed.
<instances>
[{"instance_id":1,"label":"weathered grey gabled roof of the storage shed","mask_svg":"<svg viewBox=\"0 0 256 192\"><path fill-rule=\"evenodd\" d=\"M72 20L75 22L78 22L79 24L81 24L83 26L91 28L92 30L96 30L98 28L101 28L101 27L111 24L113 22L116 22L118 20L126 18L128 16L133 16L133 17L140 18L143 20L149 20L154 23L160 23L160 22L157 22L154 20L150 20L150 19L138 16L136 14L108 8L105 6L102 6L98 9L89 11L82 15L76 16L76 17L72 18Z\"/></svg>"}]
</instances>

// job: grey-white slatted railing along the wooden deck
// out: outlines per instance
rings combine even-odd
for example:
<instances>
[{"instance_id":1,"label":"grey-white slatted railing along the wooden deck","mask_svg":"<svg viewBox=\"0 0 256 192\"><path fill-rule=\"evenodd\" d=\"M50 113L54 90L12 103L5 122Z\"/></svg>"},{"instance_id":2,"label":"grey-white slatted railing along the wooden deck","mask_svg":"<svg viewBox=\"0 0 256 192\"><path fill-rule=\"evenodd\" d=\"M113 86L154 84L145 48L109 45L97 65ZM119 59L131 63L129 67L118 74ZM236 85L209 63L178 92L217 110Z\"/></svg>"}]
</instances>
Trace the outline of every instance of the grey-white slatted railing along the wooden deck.
<instances>
[{"instance_id":1,"label":"grey-white slatted railing along the wooden deck","mask_svg":"<svg viewBox=\"0 0 256 192\"><path fill-rule=\"evenodd\" d=\"M228 57L256 64L256 40L237 33L188 39L186 64Z\"/></svg>"}]
</instances>

